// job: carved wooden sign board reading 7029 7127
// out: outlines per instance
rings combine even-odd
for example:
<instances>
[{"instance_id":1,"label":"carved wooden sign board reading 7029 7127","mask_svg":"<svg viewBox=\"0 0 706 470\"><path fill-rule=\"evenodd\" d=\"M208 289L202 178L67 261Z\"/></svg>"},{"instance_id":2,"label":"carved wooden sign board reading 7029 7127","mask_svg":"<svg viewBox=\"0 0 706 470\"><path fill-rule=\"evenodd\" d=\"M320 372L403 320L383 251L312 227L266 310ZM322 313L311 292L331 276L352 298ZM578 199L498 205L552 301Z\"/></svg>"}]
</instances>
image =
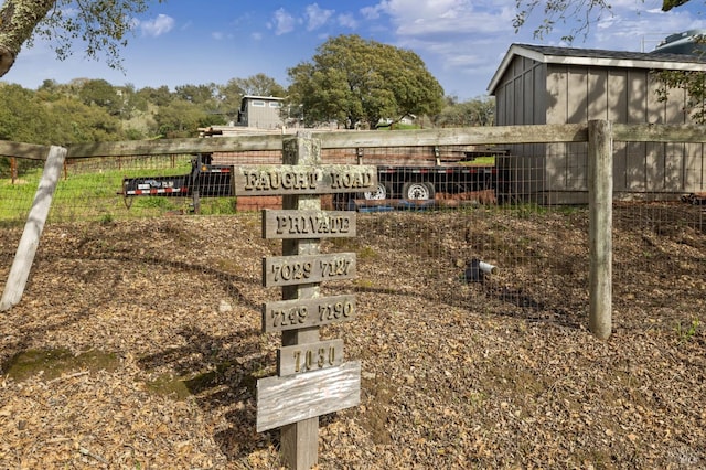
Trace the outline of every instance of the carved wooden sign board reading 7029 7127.
<instances>
[{"instance_id":1,"label":"carved wooden sign board reading 7029 7127","mask_svg":"<svg viewBox=\"0 0 706 470\"><path fill-rule=\"evenodd\" d=\"M263 258L263 286L265 287L295 286L354 277L355 253Z\"/></svg>"}]
</instances>

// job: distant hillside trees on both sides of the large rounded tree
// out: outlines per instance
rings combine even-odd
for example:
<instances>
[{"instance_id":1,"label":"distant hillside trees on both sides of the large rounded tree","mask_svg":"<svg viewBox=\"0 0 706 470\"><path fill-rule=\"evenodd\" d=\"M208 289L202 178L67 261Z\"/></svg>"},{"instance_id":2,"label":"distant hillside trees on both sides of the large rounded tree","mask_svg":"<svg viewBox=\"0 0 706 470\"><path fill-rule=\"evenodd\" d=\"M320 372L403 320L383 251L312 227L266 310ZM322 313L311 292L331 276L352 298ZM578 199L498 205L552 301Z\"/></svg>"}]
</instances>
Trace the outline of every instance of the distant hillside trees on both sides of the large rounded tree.
<instances>
[{"instance_id":1,"label":"distant hillside trees on both sides of the large rounded tree","mask_svg":"<svg viewBox=\"0 0 706 470\"><path fill-rule=\"evenodd\" d=\"M0 82L0 140L71 145L196 137L201 127L237 121L245 95L289 96L265 74L233 78L225 85L181 85L173 90L168 86L116 86L100 78L75 78L67 84L46 79L36 89ZM492 125L492 98L459 102L448 96L442 103L435 115L416 116L417 122L424 127ZM317 120L313 113L303 114L309 125L329 118L323 115ZM0 158L3 173L8 165L8 159Z\"/></svg>"}]
</instances>

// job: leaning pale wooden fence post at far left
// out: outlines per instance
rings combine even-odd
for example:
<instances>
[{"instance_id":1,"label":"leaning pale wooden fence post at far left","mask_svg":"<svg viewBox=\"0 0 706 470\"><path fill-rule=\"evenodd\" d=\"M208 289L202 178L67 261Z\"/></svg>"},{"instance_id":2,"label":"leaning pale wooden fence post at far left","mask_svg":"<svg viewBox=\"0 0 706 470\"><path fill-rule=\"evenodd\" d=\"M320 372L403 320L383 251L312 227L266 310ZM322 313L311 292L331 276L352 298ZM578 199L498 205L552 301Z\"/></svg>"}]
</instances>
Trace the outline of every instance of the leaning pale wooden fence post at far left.
<instances>
[{"instance_id":1,"label":"leaning pale wooden fence post at far left","mask_svg":"<svg viewBox=\"0 0 706 470\"><path fill-rule=\"evenodd\" d=\"M44 223L52 206L54 190L56 190L56 184L62 174L62 165L66 158L66 152L67 150L63 147L50 147L46 163L44 163L44 172L34 194L32 209L30 209L18 252L14 255L12 267L8 275L8 281L4 285L4 291L0 300L0 311L10 310L22 299L32 261L44 229Z\"/></svg>"}]
</instances>

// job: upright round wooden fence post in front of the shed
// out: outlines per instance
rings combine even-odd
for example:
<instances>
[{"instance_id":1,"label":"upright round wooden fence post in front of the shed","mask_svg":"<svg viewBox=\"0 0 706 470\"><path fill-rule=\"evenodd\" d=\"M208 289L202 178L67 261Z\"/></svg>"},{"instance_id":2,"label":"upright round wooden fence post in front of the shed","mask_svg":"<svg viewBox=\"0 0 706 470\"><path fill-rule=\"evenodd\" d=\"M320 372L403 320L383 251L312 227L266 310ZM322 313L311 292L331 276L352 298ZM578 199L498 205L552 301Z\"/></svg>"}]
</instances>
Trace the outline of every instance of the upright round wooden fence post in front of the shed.
<instances>
[{"instance_id":1,"label":"upright round wooden fence post in front of the shed","mask_svg":"<svg viewBox=\"0 0 706 470\"><path fill-rule=\"evenodd\" d=\"M606 340L612 330L612 127L588 122L589 317L590 331Z\"/></svg>"}]
</instances>

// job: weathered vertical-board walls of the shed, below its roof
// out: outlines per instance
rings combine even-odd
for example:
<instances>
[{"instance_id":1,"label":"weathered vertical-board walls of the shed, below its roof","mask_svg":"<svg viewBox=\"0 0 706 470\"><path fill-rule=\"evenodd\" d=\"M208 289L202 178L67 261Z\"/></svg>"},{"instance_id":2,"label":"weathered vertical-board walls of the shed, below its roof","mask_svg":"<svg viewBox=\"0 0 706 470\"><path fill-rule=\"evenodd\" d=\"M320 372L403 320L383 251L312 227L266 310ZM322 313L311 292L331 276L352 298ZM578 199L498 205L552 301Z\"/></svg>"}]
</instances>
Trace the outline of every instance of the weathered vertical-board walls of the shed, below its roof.
<instances>
[{"instance_id":1,"label":"weathered vertical-board walls of the shed, below its roof","mask_svg":"<svg viewBox=\"0 0 706 470\"><path fill-rule=\"evenodd\" d=\"M524 62L523 62L524 61ZM512 76L503 85L512 84L512 100L499 108L511 115L498 116L499 124L580 124L590 119L613 122L682 124L688 121L683 109L685 94L672 90L666 103L656 99L657 84L644 68L619 68L548 64L528 64L509 68ZM532 61L528 61L532 62ZM530 71L544 71L533 74ZM544 79L544 93L537 78ZM518 85L518 84L522 84ZM532 93L532 96L527 94ZM538 116L543 113L543 116ZM543 204L587 203L587 145L552 143L517 146L513 152L530 158L532 164L517 164L518 192ZM705 190L705 149L697 143L616 142L613 189L617 197L661 193L675 197L685 192ZM541 173L534 161L541 162ZM654 194L651 194L653 197Z\"/></svg>"}]
</instances>

